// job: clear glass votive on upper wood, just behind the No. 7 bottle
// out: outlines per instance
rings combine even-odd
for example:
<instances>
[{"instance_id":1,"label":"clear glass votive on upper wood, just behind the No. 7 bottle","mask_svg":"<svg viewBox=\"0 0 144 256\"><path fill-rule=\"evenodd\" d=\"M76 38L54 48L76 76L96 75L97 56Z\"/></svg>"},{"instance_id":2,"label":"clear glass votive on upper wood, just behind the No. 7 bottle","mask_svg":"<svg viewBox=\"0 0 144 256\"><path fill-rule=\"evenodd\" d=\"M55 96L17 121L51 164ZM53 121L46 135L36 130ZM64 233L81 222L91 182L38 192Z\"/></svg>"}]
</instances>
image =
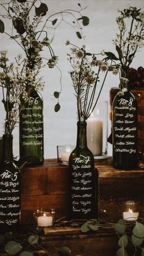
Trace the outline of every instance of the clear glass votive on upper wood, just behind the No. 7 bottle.
<instances>
[{"instance_id":1,"label":"clear glass votive on upper wood, just behind the No. 7 bottle","mask_svg":"<svg viewBox=\"0 0 144 256\"><path fill-rule=\"evenodd\" d=\"M57 161L68 165L68 160L71 152L76 146L74 145L59 145L57 146Z\"/></svg>"}]
</instances>

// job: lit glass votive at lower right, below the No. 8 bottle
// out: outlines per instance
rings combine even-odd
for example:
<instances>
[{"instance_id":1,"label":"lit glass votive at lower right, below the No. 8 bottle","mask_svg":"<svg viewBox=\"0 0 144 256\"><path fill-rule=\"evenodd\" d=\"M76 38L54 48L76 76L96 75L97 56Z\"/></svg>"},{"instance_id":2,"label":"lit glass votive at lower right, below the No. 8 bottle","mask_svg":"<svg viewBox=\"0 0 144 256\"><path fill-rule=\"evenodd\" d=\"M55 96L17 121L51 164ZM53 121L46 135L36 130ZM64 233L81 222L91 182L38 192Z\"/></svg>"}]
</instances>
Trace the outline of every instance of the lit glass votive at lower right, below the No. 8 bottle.
<instances>
[{"instance_id":1,"label":"lit glass votive at lower right, below the No. 8 bottle","mask_svg":"<svg viewBox=\"0 0 144 256\"><path fill-rule=\"evenodd\" d=\"M122 207L122 216L126 221L136 221L139 218L137 203L134 201L125 201Z\"/></svg>"}]
</instances>

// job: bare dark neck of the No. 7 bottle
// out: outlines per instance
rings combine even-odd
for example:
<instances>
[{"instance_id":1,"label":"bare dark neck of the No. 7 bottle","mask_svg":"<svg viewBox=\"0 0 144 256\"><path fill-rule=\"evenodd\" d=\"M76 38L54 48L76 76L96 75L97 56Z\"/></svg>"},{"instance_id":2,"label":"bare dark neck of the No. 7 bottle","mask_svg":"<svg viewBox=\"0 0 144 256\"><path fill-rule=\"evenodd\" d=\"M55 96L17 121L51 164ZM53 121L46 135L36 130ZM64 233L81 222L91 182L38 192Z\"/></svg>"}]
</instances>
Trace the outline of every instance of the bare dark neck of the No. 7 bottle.
<instances>
[{"instance_id":1,"label":"bare dark neck of the No. 7 bottle","mask_svg":"<svg viewBox=\"0 0 144 256\"><path fill-rule=\"evenodd\" d=\"M77 122L77 147L87 147L87 122Z\"/></svg>"}]
</instances>

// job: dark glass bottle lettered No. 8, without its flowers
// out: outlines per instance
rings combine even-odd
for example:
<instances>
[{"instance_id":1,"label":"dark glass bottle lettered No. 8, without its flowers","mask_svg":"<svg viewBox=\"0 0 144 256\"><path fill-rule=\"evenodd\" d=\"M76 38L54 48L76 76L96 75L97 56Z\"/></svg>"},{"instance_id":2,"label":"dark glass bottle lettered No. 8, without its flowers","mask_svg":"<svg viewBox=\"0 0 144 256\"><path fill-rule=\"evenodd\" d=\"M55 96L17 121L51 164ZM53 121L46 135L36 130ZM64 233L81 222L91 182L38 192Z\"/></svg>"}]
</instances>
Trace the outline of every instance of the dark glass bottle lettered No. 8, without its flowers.
<instances>
[{"instance_id":1,"label":"dark glass bottle lettered No. 8, without its flowers","mask_svg":"<svg viewBox=\"0 0 144 256\"><path fill-rule=\"evenodd\" d=\"M122 89L113 100L113 167L137 167L137 100L129 90L128 79L121 78Z\"/></svg>"}]
</instances>

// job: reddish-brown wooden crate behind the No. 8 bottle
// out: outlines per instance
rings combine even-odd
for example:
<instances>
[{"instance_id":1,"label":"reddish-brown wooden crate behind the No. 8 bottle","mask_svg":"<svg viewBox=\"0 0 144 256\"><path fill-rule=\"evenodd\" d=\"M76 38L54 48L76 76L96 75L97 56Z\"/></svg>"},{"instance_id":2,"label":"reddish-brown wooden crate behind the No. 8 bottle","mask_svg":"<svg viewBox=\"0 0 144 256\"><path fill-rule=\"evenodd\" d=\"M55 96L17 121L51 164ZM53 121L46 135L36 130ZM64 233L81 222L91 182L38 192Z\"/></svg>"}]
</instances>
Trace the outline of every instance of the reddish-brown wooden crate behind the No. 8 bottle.
<instances>
[{"instance_id":1,"label":"reddish-brown wooden crate behind the No. 8 bottle","mask_svg":"<svg viewBox=\"0 0 144 256\"><path fill-rule=\"evenodd\" d=\"M110 89L110 120L112 120L112 102L118 92L118 88ZM138 151L144 152L144 89L133 89L131 92L135 95L138 104ZM112 143L112 141L109 141Z\"/></svg>"}]
</instances>

